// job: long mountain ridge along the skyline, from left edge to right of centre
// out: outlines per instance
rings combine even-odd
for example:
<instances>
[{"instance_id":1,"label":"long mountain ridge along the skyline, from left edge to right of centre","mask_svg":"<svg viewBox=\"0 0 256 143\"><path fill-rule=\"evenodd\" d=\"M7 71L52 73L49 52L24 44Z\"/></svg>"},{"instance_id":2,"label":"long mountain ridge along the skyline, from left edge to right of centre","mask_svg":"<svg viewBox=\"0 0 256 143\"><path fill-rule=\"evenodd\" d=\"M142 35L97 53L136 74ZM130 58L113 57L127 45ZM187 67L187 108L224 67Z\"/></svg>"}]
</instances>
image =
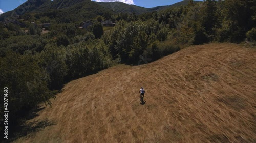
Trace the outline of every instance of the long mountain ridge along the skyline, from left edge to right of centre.
<instances>
[{"instance_id":1,"label":"long mountain ridge along the skyline, from left edge to right of centre","mask_svg":"<svg viewBox=\"0 0 256 143\"><path fill-rule=\"evenodd\" d=\"M25 13L42 13L51 10L71 10L72 13L77 13L78 11L88 11L88 13L91 13L93 16L103 15L104 11L109 11L112 13L127 12L139 15L146 12L160 11L169 7L186 5L188 2L188 0L184 0L173 5L145 8L136 5L128 5L122 2L95 2L91 0L29 0L14 10L1 14L0 21L4 21L4 19L7 17L15 19L16 16L24 15ZM194 2L196 3L199 1ZM79 15L79 12L77 14Z\"/></svg>"}]
</instances>

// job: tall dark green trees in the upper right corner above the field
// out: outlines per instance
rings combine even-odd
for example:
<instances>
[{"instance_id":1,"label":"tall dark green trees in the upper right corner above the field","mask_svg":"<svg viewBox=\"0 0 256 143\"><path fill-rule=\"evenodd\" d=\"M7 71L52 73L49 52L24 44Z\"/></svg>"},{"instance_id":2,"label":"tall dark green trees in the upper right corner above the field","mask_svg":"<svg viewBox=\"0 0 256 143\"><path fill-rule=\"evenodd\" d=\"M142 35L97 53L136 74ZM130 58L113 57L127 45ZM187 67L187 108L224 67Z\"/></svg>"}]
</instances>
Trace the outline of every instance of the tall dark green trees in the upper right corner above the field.
<instances>
[{"instance_id":1,"label":"tall dark green trees in the upper right corner above the field","mask_svg":"<svg viewBox=\"0 0 256 143\"><path fill-rule=\"evenodd\" d=\"M219 41L241 42L246 37L246 32L255 25L253 15L255 10L253 1L231 1L223 3L223 22L218 30Z\"/></svg>"}]
</instances>

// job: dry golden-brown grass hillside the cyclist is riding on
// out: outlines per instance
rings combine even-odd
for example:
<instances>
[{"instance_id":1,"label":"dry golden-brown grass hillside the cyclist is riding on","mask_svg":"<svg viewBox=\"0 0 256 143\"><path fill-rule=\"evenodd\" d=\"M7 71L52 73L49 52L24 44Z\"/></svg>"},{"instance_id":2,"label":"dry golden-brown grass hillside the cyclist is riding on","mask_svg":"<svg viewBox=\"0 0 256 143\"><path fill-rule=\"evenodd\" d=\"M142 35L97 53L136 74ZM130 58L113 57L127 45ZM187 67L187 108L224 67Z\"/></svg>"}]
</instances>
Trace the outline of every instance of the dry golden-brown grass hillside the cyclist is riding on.
<instances>
[{"instance_id":1,"label":"dry golden-brown grass hillside the cyclist is riding on","mask_svg":"<svg viewBox=\"0 0 256 143\"><path fill-rule=\"evenodd\" d=\"M69 82L52 103L14 142L255 142L256 50L208 44L115 66Z\"/></svg>"}]
</instances>

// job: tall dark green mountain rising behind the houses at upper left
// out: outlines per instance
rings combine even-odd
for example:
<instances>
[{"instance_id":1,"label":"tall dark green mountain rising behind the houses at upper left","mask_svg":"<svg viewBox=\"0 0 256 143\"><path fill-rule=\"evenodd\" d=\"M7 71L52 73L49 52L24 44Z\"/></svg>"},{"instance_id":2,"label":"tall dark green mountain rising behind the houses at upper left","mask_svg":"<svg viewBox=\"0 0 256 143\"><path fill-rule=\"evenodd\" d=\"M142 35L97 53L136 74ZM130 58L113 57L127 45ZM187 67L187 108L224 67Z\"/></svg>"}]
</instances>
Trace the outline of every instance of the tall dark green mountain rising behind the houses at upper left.
<instances>
[{"instance_id":1,"label":"tall dark green mountain rising behind the houses at upper left","mask_svg":"<svg viewBox=\"0 0 256 143\"><path fill-rule=\"evenodd\" d=\"M15 15L23 15L25 13L58 13L58 18L71 18L75 20L89 20L97 15L103 15L105 12L111 11L91 0L39 0L40 5L36 0L27 1L14 9L13 11L0 15L0 20L11 17L15 19Z\"/></svg>"}]
</instances>

